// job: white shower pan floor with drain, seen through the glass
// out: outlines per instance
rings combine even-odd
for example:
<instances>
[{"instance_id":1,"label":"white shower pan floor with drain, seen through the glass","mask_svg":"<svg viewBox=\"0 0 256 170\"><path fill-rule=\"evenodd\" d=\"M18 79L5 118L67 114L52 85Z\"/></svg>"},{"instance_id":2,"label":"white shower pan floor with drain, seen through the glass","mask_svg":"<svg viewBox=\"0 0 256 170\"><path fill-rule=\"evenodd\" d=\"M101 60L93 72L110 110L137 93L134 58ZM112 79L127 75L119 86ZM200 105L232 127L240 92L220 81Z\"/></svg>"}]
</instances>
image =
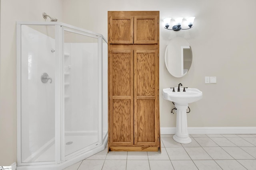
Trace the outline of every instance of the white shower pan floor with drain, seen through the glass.
<instances>
[{"instance_id":1,"label":"white shower pan floor with drain, seen through the glass","mask_svg":"<svg viewBox=\"0 0 256 170\"><path fill-rule=\"evenodd\" d=\"M80 149L88 147L98 141L98 135L66 135L65 136L65 156ZM71 143L72 142L72 143ZM68 143L68 145L66 144ZM55 160L55 141L46 147L33 162L46 162Z\"/></svg>"}]
</instances>

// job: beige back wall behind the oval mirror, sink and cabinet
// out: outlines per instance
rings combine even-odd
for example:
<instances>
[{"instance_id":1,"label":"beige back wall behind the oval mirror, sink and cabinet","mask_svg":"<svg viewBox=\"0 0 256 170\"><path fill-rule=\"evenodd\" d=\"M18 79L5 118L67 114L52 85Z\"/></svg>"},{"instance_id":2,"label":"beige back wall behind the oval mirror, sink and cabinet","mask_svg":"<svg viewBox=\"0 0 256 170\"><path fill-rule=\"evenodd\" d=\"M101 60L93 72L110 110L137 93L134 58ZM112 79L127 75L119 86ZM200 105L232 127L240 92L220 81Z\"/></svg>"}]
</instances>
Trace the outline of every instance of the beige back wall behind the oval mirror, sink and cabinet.
<instances>
[{"instance_id":1,"label":"beige back wall behind the oval mirror, sink and cabinet","mask_svg":"<svg viewBox=\"0 0 256 170\"><path fill-rule=\"evenodd\" d=\"M160 11L160 126L175 127L172 103L162 99L162 89L180 82L203 92L190 104L188 127L256 127L256 20L255 0L63 0L63 21L107 37L107 12L111 10ZM86 16L86 17L85 17ZM194 28L169 31L166 17L195 16ZM74 19L75 18L75 19ZM172 27L172 25L170 25ZM174 78L164 64L164 51L174 37L184 37L192 47L192 66L184 77ZM216 76L216 84L204 84Z\"/></svg>"}]
</instances>

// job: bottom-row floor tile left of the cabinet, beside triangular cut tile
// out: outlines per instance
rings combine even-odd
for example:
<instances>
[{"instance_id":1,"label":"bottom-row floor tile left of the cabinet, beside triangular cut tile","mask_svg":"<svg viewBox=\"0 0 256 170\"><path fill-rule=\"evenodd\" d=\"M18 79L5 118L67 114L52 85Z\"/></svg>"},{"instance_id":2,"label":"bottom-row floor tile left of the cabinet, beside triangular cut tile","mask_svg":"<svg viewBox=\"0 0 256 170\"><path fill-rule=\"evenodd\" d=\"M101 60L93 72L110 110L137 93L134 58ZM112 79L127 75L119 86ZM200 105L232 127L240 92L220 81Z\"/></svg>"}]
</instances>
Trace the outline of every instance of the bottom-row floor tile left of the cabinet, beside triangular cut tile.
<instances>
[{"instance_id":1,"label":"bottom-row floor tile left of the cabinet, beside triangular cut tile","mask_svg":"<svg viewBox=\"0 0 256 170\"><path fill-rule=\"evenodd\" d=\"M78 170L101 170L104 160L83 160Z\"/></svg>"}]
</instances>

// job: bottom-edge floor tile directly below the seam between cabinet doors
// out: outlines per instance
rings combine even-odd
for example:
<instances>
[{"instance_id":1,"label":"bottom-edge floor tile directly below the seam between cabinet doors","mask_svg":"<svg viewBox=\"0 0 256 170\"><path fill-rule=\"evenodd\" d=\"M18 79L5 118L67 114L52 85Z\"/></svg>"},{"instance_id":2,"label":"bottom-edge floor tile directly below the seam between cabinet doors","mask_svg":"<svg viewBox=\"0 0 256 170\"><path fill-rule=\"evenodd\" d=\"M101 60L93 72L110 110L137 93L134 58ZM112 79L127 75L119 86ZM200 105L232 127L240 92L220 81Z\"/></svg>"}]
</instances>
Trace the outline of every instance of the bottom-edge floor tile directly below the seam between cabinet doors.
<instances>
[{"instance_id":1,"label":"bottom-edge floor tile directly below the seam between cabinet doors","mask_svg":"<svg viewBox=\"0 0 256 170\"><path fill-rule=\"evenodd\" d=\"M127 160L126 170L150 170L148 160Z\"/></svg>"}]
</instances>

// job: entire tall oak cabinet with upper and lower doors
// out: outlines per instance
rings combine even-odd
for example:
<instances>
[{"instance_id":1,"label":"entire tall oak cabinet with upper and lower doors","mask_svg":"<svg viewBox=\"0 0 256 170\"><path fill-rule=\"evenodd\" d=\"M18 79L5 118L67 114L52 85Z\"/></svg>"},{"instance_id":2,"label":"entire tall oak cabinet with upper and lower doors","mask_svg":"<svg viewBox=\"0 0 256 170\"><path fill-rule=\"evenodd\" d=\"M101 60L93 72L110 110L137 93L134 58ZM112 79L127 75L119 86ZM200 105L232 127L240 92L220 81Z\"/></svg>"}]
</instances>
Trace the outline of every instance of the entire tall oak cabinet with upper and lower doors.
<instances>
[{"instance_id":1,"label":"entire tall oak cabinet with upper and lower doors","mask_svg":"<svg viewBox=\"0 0 256 170\"><path fill-rule=\"evenodd\" d=\"M159 12L108 12L109 150L157 151Z\"/></svg>"}]
</instances>

